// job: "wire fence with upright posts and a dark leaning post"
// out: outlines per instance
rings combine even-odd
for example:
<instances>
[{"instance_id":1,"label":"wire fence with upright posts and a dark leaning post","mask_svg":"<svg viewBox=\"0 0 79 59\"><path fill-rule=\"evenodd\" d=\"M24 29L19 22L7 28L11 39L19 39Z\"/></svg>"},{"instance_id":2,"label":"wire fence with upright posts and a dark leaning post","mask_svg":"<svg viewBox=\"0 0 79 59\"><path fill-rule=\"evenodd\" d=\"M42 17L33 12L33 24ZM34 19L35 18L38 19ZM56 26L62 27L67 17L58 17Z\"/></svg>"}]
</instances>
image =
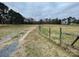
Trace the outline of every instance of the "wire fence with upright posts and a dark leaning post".
<instances>
[{"instance_id":1,"label":"wire fence with upright posts and a dark leaning post","mask_svg":"<svg viewBox=\"0 0 79 59\"><path fill-rule=\"evenodd\" d=\"M65 32L62 27L54 29L53 27L43 27L39 25L39 33L45 38L56 42L57 44L79 47L79 36L73 33Z\"/></svg>"}]
</instances>

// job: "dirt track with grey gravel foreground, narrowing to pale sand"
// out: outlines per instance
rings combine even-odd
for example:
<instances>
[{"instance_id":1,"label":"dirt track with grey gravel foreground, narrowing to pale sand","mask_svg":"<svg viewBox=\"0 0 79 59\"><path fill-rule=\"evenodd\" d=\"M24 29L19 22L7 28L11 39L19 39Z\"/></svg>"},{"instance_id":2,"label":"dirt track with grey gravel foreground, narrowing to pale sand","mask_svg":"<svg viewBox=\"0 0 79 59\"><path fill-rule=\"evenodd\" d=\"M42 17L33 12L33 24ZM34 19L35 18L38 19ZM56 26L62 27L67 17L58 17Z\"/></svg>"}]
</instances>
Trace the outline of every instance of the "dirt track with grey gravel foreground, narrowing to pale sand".
<instances>
[{"instance_id":1,"label":"dirt track with grey gravel foreground, narrowing to pale sand","mask_svg":"<svg viewBox=\"0 0 79 59\"><path fill-rule=\"evenodd\" d=\"M30 30L29 30L30 29ZM21 45L22 40L33 30L35 27L30 27L26 31L24 36L19 36L16 40L13 40L11 44L0 49L0 57L9 57L13 52L15 52Z\"/></svg>"}]
</instances>

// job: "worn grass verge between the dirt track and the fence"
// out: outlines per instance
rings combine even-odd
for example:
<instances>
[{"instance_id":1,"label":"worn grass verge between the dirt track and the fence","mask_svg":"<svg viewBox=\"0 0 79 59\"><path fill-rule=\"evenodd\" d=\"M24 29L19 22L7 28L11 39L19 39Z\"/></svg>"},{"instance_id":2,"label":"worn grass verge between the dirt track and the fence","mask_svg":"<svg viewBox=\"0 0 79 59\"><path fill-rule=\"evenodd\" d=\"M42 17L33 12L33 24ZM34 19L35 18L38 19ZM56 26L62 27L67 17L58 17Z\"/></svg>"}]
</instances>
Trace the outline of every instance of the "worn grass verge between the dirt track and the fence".
<instances>
[{"instance_id":1,"label":"worn grass verge between the dirt track and the fence","mask_svg":"<svg viewBox=\"0 0 79 59\"><path fill-rule=\"evenodd\" d=\"M21 44L22 47L13 56L75 56L73 53L41 37L37 30L32 31L22 40Z\"/></svg>"}]
</instances>

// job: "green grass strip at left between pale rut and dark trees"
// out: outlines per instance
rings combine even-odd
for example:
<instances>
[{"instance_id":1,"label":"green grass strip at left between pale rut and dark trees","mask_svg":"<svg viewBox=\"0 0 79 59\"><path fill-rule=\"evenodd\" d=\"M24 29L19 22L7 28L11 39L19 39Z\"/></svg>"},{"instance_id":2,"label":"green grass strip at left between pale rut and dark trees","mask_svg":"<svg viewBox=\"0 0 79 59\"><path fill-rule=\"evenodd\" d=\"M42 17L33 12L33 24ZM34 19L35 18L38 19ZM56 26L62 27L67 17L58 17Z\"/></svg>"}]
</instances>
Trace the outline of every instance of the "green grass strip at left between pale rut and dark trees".
<instances>
[{"instance_id":1,"label":"green grass strip at left between pale rut and dark trees","mask_svg":"<svg viewBox=\"0 0 79 59\"><path fill-rule=\"evenodd\" d=\"M11 33L19 33L30 27L29 25L1 25L0 24L0 38Z\"/></svg>"}]
</instances>

